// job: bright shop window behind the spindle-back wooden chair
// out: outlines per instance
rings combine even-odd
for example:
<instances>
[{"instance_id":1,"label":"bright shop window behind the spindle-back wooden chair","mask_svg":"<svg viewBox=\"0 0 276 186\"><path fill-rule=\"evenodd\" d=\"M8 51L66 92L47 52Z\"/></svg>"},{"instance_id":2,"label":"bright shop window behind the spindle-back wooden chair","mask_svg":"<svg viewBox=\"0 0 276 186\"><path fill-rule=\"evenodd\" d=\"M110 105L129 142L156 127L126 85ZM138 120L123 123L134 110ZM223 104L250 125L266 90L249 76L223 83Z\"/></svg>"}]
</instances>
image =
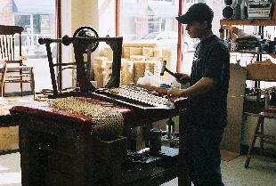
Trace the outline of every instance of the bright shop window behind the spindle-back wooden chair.
<instances>
[{"instance_id":1,"label":"bright shop window behind the spindle-back wooden chair","mask_svg":"<svg viewBox=\"0 0 276 186\"><path fill-rule=\"evenodd\" d=\"M56 38L55 0L2 0L1 4L5 4L5 11L0 12L0 24L24 28L22 54L28 59L25 64L34 67L36 92L52 89L45 45L37 41L39 37ZM19 44L16 37L15 44ZM53 55L56 56L55 53ZM7 87L7 92L17 91L12 85Z\"/></svg>"}]
</instances>

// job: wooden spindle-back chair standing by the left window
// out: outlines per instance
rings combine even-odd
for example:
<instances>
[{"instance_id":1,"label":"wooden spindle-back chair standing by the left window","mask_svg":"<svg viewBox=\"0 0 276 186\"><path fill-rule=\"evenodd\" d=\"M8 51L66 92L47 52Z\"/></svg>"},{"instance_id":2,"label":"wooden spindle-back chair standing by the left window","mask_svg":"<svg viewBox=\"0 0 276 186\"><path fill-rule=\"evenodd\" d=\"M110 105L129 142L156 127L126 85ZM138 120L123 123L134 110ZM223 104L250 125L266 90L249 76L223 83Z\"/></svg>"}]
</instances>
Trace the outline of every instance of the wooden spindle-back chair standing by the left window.
<instances>
[{"instance_id":1,"label":"wooden spindle-back chair standing by the left window","mask_svg":"<svg viewBox=\"0 0 276 186\"><path fill-rule=\"evenodd\" d=\"M4 97L5 85L8 83L20 83L21 96L23 96L23 84L29 83L31 92L36 97L35 79L33 67L23 65L21 53L21 33L24 28L19 26L0 25L0 64L3 68L1 78L1 96ZM15 43L15 36L19 38ZM17 50L15 50L17 49Z\"/></svg>"}]
</instances>

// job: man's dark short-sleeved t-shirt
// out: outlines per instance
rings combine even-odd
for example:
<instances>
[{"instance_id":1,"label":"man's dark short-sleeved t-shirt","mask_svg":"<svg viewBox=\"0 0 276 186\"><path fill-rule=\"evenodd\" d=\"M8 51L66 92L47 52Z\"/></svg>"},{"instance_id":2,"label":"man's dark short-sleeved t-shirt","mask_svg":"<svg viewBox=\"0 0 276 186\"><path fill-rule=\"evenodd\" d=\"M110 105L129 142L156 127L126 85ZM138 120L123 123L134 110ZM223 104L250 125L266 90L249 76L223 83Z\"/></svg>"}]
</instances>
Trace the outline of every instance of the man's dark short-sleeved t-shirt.
<instances>
[{"instance_id":1,"label":"man's dark short-sleeved t-shirt","mask_svg":"<svg viewBox=\"0 0 276 186\"><path fill-rule=\"evenodd\" d=\"M191 68L190 85L202 77L215 78L217 85L208 93L189 97L191 126L223 129L227 125L227 93L229 86L229 51L217 36L210 36L197 46Z\"/></svg>"}]
</instances>

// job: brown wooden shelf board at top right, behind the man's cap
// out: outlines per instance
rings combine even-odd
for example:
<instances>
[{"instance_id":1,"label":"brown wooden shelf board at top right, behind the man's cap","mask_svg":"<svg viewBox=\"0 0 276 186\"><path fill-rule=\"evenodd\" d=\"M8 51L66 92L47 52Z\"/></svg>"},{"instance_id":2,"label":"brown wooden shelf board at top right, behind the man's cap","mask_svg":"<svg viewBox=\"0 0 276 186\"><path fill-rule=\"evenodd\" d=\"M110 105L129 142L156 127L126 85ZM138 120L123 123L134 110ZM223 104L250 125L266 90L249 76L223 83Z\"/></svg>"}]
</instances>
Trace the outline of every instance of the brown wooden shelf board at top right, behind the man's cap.
<instances>
[{"instance_id":1,"label":"brown wooden shelf board at top right, behind the man's cap","mask_svg":"<svg viewBox=\"0 0 276 186\"><path fill-rule=\"evenodd\" d=\"M221 25L276 26L276 20L220 20Z\"/></svg>"}]
</instances>

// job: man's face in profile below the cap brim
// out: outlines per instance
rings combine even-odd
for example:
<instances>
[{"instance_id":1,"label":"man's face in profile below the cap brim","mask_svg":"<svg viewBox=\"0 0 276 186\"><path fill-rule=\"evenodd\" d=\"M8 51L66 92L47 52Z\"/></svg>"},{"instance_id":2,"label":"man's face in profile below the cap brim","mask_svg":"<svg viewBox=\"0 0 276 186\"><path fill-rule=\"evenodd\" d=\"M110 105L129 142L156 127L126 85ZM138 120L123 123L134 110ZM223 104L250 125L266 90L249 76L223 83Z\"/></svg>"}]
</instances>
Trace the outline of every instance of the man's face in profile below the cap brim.
<instances>
[{"instance_id":1,"label":"man's face in profile below the cap brim","mask_svg":"<svg viewBox=\"0 0 276 186\"><path fill-rule=\"evenodd\" d=\"M197 38L203 36L207 28L207 22L194 21L186 25L186 30L191 38Z\"/></svg>"}]
</instances>

